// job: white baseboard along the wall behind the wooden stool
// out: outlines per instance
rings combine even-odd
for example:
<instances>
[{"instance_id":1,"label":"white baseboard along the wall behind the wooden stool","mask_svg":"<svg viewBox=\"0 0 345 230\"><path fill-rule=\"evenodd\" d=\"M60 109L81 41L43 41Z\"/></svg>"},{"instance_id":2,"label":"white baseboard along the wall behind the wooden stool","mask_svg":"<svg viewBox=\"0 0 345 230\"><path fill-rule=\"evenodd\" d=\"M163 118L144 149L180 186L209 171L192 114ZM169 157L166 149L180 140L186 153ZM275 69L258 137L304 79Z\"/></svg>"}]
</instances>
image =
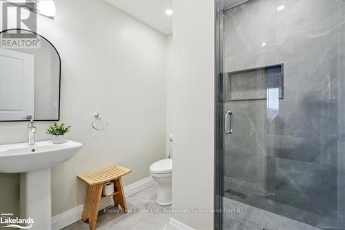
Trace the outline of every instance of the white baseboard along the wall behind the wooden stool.
<instances>
[{"instance_id":1,"label":"white baseboard along the wall behind the wooden stool","mask_svg":"<svg viewBox=\"0 0 345 230\"><path fill-rule=\"evenodd\" d=\"M152 186L155 182L152 180L151 177L144 178L143 180L139 180L133 184L124 187L125 197L128 198L135 193L139 193L144 189L147 189L149 186ZM111 198L101 200L99 204L99 210L109 207L113 205L114 202ZM67 227L68 225L81 220L81 215L83 214L84 205L81 204L73 209L68 211L64 211L58 215L52 217L52 230L59 230Z\"/></svg>"}]
</instances>

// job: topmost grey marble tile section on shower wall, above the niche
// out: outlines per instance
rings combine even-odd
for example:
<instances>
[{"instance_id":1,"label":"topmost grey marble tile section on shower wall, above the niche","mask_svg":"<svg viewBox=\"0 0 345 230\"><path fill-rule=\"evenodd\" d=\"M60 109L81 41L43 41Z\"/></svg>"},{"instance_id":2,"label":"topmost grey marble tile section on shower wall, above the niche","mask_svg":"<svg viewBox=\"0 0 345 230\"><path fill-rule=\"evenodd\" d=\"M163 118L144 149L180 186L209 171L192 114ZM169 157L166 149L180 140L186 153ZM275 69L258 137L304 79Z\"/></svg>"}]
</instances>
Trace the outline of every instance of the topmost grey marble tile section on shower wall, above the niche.
<instances>
[{"instance_id":1,"label":"topmost grey marble tile section on shower wall, above the niche","mask_svg":"<svg viewBox=\"0 0 345 230\"><path fill-rule=\"evenodd\" d=\"M344 4L339 2L250 1L227 10L224 23L225 39L229 42L226 56L343 32ZM277 7L282 5L284 10L277 12ZM266 42L265 47L262 42Z\"/></svg>"}]
</instances>

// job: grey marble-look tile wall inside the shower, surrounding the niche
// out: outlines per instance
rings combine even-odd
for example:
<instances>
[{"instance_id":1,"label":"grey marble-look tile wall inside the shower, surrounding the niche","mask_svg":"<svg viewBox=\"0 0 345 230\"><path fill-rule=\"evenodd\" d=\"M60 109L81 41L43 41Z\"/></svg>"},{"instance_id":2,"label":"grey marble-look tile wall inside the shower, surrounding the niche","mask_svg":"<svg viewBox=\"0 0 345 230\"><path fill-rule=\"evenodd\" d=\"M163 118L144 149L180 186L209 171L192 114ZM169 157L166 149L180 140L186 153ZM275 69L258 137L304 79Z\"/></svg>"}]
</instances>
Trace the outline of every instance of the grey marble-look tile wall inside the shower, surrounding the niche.
<instances>
[{"instance_id":1,"label":"grey marble-look tile wall inside the shower, surrounding the niche","mask_svg":"<svg viewBox=\"0 0 345 230\"><path fill-rule=\"evenodd\" d=\"M265 99L224 102L233 112L225 193L345 228L345 1L250 0L226 10L225 73L280 63L284 99L275 113Z\"/></svg>"}]
</instances>

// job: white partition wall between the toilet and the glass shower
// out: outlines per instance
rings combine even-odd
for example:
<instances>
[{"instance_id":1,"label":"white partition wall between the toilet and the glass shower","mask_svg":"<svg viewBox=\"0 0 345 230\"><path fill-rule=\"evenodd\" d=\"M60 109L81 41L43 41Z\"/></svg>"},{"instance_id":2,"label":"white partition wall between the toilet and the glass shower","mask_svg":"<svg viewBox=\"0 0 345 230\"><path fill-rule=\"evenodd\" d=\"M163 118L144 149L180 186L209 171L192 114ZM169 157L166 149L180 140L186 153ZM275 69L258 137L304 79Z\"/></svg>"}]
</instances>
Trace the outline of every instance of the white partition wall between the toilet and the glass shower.
<instances>
[{"instance_id":1,"label":"white partition wall between the toilet and the glass shower","mask_svg":"<svg viewBox=\"0 0 345 230\"><path fill-rule=\"evenodd\" d=\"M214 1L173 1L172 208L213 209ZM213 214L175 214L193 229L213 229Z\"/></svg>"}]
</instances>

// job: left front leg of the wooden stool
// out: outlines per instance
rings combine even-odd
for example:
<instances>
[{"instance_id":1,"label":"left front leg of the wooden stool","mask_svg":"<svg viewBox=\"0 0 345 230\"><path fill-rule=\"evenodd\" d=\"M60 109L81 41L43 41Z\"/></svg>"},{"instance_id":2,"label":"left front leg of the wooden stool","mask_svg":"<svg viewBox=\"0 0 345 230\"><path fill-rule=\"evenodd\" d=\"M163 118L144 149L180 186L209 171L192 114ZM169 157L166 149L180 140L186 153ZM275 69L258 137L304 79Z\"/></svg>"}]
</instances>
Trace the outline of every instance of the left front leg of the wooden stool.
<instances>
[{"instance_id":1,"label":"left front leg of the wooden stool","mask_svg":"<svg viewBox=\"0 0 345 230\"><path fill-rule=\"evenodd\" d=\"M90 185L88 189L88 202L85 204L82 220L86 221L88 219L89 227L92 230L96 229L99 202L101 201L102 189L103 184Z\"/></svg>"}]
</instances>

